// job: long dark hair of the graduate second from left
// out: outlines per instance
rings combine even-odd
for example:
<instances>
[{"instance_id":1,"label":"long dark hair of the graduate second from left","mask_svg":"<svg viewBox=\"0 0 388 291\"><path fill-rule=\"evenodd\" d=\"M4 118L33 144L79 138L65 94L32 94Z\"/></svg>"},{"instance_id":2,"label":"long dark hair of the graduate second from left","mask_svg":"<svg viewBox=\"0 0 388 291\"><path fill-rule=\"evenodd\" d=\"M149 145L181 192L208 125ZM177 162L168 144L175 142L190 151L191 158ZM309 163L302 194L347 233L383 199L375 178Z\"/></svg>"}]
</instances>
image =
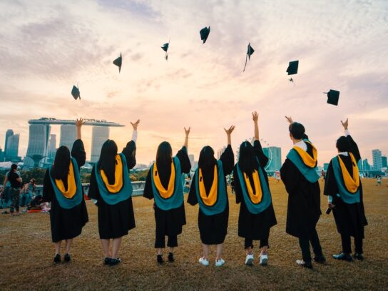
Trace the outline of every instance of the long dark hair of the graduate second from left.
<instances>
[{"instance_id":1,"label":"long dark hair of the graduate second from left","mask_svg":"<svg viewBox=\"0 0 388 291\"><path fill-rule=\"evenodd\" d=\"M108 178L109 184L115 183L117 145L115 141L107 140L101 148L98 170L103 170Z\"/></svg>"}]
</instances>

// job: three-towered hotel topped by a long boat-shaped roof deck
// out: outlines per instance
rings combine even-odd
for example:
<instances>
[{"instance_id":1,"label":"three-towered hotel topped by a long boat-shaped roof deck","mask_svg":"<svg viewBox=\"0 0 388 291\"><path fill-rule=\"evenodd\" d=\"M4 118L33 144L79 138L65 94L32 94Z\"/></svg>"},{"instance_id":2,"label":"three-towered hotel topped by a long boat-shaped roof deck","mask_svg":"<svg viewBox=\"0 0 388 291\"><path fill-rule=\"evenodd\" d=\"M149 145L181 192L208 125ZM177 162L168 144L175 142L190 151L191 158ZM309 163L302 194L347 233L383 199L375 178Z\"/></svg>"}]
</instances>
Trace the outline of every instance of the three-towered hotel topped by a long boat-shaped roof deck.
<instances>
[{"instance_id":1,"label":"three-towered hotel topped by a long boat-shaped roof deck","mask_svg":"<svg viewBox=\"0 0 388 291\"><path fill-rule=\"evenodd\" d=\"M86 119L85 126L93 126L91 143L91 162L98 161L101 146L109 138L109 127L123 126L105 120ZM29 120L29 147L27 148L25 165L43 166L53 158L56 148L56 136L51 135L51 125L61 126L59 146L67 146L71 150L76 141L76 122L56 118L40 118ZM52 160L51 160L52 163Z\"/></svg>"}]
</instances>

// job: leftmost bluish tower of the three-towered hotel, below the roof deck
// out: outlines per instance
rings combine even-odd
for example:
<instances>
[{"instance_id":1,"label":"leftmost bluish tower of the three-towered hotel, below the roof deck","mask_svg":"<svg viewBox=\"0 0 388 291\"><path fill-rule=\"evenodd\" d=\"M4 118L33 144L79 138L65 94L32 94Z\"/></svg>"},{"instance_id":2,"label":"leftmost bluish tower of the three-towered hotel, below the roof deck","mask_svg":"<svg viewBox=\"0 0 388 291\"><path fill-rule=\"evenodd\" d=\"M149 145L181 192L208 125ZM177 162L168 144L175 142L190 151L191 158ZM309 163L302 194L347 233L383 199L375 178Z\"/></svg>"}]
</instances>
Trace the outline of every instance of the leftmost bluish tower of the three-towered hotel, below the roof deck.
<instances>
[{"instance_id":1,"label":"leftmost bluish tower of the three-towered hotel, below the roof deck","mask_svg":"<svg viewBox=\"0 0 388 291\"><path fill-rule=\"evenodd\" d=\"M30 124L29 147L27 148L24 165L41 167L47 156L47 144L50 137L49 124Z\"/></svg>"}]
</instances>

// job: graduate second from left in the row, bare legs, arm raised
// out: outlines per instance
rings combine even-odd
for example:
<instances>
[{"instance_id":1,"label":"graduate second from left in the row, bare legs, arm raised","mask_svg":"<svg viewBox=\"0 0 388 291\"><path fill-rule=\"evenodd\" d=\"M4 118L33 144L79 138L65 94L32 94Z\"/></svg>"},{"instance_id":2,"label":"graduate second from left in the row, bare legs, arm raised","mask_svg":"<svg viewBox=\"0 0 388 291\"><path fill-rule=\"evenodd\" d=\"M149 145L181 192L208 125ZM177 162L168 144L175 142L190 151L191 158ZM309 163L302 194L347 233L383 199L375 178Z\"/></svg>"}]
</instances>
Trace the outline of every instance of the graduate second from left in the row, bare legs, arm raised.
<instances>
[{"instance_id":1,"label":"graduate second from left in the row, bare legs, arm raised","mask_svg":"<svg viewBox=\"0 0 388 291\"><path fill-rule=\"evenodd\" d=\"M117 265L121 241L128 230L135 228L135 215L132 205L132 184L128 170L136 165L136 138L140 121L133 126L132 141L129 141L121 153L118 153L114 141L103 143L98 163L91 171L91 183L88 197L97 200L98 233L105 265ZM109 248L112 241L112 251Z\"/></svg>"}]
</instances>

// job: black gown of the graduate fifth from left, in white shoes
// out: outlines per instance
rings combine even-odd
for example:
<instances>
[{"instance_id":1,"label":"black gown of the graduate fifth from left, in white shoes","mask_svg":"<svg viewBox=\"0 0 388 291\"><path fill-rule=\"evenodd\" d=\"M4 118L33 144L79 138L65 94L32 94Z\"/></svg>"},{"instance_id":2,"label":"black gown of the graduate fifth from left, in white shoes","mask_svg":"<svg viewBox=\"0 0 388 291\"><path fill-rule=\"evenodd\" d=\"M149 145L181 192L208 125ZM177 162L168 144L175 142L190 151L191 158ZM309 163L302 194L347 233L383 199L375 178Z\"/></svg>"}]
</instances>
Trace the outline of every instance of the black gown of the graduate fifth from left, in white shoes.
<instances>
[{"instance_id":1,"label":"black gown of the graduate fifth from left, in white shoes","mask_svg":"<svg viewBox=\"0 0 388 291\"><path fill-rule=\"evenodd\" d=\"M267 172L264 170L265 165L268 163L268 158L262 151L260 141L255 141L253 143L253 148L255 149L256 157L262 167L265 183L267 183L269 188ZM251 185L253 185L252 174L248 175L248 177ZM267 239L270 234L270 228L277 224L272 203L266 210L262 211L262 213L250 213L249 210L247 210L247 205L242 196L241 183L237 173L237 164L233 168L233 178L235 180L236 203L241 203L240 214L238 215L238 236L250 240Z\"/></svg>"}]
</instances>

